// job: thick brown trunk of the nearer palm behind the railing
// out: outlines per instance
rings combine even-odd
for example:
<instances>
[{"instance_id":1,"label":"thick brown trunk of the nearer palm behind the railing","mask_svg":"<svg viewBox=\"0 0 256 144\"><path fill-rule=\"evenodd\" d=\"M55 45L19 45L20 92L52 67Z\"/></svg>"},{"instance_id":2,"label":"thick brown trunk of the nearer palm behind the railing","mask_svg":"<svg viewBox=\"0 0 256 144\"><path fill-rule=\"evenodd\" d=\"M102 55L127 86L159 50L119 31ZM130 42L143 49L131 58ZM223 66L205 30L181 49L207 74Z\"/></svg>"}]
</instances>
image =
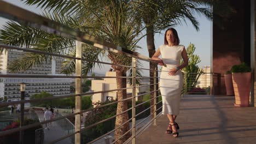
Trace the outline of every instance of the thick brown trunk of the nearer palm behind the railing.
<instances>
[{"instance_id":1,"label":"thick brown trunk of the nearer palm behind the railing","mask_svg":"<svg viewBox=\"0 0 256 144\"><path fill-rule=\"evenodd\" d=\"M116 74L117 76L125 76L125 73L121 70L116 70ZM117 78L117 88L126 88L126 79L120 79ZM126 95L126 89L125 90L118 90L117 93L117 98L118 101L126 99L127 95ZM117 105L117 115L119 113L122 113L123 111L127 110L127 101L122 101L119 102ZM128 112L125 112L119 116L117 116L116 120L115 120L115 128L119 127L121 124L125 123L122 127L120 127L119 129L115 130L115 140L119 139L119 137L121 137L122 135L124 135L126 133L126 131L128 131L130 129L130 125L129 122L127 122L129 119L129 115ZM125 136L123 136L120 140L118 140L116 143L124 143L127 139L129 139L129 137L131 136L130 133L127 133Z\"/></svg>"}]
</instances>

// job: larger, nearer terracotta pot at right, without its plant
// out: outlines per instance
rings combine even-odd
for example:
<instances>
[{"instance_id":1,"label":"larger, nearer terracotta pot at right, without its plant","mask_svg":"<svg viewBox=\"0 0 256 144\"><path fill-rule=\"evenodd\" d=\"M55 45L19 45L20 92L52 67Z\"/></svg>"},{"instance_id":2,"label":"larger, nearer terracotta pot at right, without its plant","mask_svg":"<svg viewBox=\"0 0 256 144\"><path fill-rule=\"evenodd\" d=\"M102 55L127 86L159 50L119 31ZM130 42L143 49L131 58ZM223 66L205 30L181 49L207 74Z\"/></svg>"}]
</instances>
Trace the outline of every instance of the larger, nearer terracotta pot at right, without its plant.
<instances>
[{"instance_id":1,"label":"larger, nearer terracotta pot at right, without its plant","mask_svg":"<svg viewBox=\"0 0 256 144\"><path fill-rule=\"evenodd\" d=\"M251 76L251 73L232 73L232 81L235 92L235 106L249 106Z\"/></svg>"}]
</instances>

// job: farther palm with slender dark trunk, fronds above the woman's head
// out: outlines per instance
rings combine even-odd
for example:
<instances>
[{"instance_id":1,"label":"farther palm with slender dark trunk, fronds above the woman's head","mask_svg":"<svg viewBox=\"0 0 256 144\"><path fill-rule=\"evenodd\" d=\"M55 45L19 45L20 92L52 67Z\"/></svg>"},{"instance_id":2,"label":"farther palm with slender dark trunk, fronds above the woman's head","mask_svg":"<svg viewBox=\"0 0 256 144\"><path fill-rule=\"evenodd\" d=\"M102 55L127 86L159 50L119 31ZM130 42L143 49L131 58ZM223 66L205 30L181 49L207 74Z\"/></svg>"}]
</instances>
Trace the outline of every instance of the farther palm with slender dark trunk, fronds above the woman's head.
<instances>
[{"instance_id":1,"label":"farther palm with slender dark trunk, fronds above the woman's head","mask_svg":"<svg viewBox=\"0 0 256 144\"><path fill-rule=\"evenodd\" d=\"M199 22L195 18L195 14L206 16L212 20L214 8L214 16L218 25L221 25L221 18L228 17L234 10L229 6L228 1L213 1L213 0L137 0L134 4L134 9L137 11L135 16L146 26L147 47L149 57L155 53L154 34L160 33L162 29L181 25L182 22L189 20L192 25L199 31ZM150 69L154 69L155 64L150 62ZM154 76L154 71L150 70L150 77ZM150 84L154 83L154 79L150 78ZM157 87L158 88L158 87ZM154 86L150 86L150 91L153 91ZM150 98L153 98L153 93L150 93ZM154 101L151 101L153 105ZM153 113L153 107L150 109Z\"/></svg>"}]
</instances>

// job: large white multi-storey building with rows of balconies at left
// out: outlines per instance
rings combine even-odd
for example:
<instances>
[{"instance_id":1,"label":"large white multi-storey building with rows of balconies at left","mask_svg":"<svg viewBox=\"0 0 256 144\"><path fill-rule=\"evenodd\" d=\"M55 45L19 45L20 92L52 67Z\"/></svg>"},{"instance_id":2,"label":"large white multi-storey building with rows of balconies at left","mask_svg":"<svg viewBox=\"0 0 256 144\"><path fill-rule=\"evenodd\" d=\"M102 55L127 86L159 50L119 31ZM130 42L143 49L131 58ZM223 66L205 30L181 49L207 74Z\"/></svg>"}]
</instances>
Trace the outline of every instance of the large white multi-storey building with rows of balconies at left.
<instances>
[{"instance_id":1,"label":"large white multi-storey building with rows of balconies at left","mask_svg":"<svg viewBox=\"0 0 256 144\"><path fill-rule=\"evenodd\" d=\"M19 59L25 52L18 50L8 50L3 52L0 56L0 73L10 73L7 69L8 65L15 59ZM42 62L40 65L34 65L30 70L19 71L16 74L38 74L38 75L60 75L61 62L63 59L55 58L50 61ZM70 94L71 79L37 79L37 78L1 78L0 79L0 98L7 97L8 99L15 99L20 97L20 84L27 83L25 93L27 96L47 92L54 96Z\"/></svg>"}]
</instances>

